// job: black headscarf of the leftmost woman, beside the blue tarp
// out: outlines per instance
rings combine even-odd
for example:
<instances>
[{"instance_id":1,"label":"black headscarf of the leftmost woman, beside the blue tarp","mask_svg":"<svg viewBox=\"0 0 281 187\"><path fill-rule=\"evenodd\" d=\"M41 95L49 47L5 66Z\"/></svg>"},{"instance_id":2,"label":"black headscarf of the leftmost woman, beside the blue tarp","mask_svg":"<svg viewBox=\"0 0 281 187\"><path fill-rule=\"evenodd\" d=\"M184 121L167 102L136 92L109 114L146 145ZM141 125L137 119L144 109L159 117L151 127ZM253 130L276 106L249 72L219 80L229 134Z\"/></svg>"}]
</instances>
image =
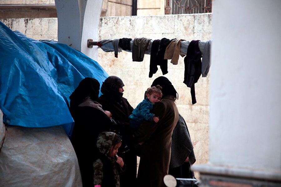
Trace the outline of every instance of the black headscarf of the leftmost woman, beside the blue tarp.
<instances>
[{"instance_id":1,"label":"black headscarf of the leftmost woman, beside the blue tarp","mask_svg":"<svg viewBox=\"0 0 281 187\"><path fill-rule=\"evenodd\" d=\"M70 108L80 105L86 97L90 97L93 101L98 101L99 90L99 81L91 77L83 79L73 93L69 96Z\"/></svg>"}]
</instances>

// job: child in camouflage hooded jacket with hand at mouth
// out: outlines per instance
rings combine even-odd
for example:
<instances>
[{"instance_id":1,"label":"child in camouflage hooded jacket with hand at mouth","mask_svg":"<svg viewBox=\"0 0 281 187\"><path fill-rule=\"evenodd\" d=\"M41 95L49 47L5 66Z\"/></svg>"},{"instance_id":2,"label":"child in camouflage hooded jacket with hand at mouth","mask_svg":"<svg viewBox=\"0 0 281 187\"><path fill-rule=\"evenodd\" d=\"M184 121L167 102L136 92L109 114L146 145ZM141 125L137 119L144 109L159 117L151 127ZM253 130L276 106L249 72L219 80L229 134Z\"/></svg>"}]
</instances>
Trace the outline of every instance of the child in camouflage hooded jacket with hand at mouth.
<instances>
[{"instance_id":1,"label":"child in camouflage hooded jacket with hand at mouth","mask_svg":"<svg viewBox=\"0 0 281 187\"><path fill-rule=\"evenodd\" d=\"M121 138L114 132L102 132L96 142L99 154L94 159L94 185L120 187L119 173L125 170L121 157L117 156Z\"/></svg>"}]
</instances>

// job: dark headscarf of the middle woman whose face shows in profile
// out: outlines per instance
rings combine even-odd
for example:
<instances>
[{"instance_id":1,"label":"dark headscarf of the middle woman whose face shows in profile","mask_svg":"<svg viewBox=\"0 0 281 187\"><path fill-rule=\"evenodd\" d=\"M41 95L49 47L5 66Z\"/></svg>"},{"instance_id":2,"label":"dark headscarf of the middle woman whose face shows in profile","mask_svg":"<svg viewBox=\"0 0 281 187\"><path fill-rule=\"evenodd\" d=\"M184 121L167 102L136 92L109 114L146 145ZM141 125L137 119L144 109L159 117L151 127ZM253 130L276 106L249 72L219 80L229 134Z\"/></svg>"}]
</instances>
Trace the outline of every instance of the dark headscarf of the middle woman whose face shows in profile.
<instances>
[{"instance_id":1,"label":"dark headscarf of the middle woman whose face shows in profile","mask_svg":"<svg viewBox=\"0 0 281 187\"><path fill-rule=\"evenodd\" d=\"M117 76L109 76L102 82L101 93L112 101L121 102L123 93L119 92L119 88L125 86L123 81Z\"/></svg>"}]
</instances>

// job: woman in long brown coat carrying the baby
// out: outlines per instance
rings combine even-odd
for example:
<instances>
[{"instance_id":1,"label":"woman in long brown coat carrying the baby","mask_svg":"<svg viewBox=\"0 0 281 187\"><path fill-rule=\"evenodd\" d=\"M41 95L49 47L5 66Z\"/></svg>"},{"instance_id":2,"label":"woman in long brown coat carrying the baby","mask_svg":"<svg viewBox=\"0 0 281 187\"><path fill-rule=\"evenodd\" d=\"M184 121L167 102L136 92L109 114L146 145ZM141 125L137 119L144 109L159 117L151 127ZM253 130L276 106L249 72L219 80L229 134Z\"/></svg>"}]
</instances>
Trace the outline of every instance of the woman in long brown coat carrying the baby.
<instances>
[{"instance_id":1,"label":"woman in long brown coat carrying the baby","mask_svg":"<svg viewBox=\"0 0 281 187\"><path fill-rule=\"evenodd\" d=\"M156 78L151 86L162 86L162 100L155 103L152 113L159 116L157 123L145 121L135 133L141 146L141 160L137 186L165 187L163 177L168 174L172 133L179 120L175 105L176 90L164 76Z\"/></svg>"}]
</instances>

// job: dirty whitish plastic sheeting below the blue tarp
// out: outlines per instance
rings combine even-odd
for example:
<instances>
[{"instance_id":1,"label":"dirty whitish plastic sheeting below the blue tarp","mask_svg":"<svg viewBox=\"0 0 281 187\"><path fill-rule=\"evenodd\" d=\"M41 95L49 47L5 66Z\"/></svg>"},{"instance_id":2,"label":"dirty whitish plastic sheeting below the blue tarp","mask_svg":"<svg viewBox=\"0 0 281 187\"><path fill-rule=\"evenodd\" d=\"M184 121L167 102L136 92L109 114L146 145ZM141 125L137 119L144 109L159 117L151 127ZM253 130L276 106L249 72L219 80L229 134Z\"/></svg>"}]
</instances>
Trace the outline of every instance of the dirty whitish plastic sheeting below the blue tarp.
<instances>
[{"instance_id":1,"label":"dirty whitish plastic sheeting below the blue tarp","mask_svg":"<svg viewBox=\"0 0 281 187\"><path fill-rule=\"evenodd\" d=\"M82 186L75 151L61 125L7 125L0 152L0 176L0 187Z\"/></svg>"}]
</instances>

